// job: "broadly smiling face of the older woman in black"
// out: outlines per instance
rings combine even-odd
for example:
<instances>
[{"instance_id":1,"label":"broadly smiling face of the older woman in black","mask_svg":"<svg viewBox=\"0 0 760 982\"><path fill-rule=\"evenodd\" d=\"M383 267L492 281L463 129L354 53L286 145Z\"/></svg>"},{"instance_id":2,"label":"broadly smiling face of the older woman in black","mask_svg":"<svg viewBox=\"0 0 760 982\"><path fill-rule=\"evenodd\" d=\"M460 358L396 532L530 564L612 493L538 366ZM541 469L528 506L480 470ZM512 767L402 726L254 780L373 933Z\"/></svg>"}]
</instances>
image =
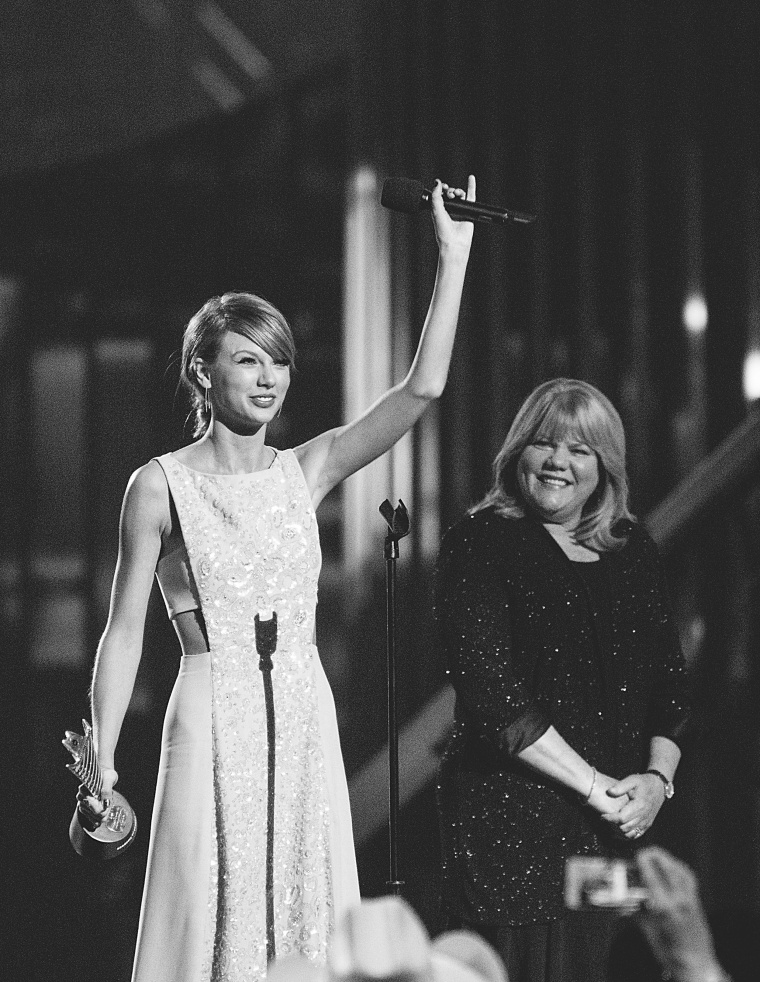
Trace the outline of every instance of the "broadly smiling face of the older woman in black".
<instances>
[{"instance_id":1,"label":"broadly smiling face of the older woman in black","mask_svg":"<svg viewBox=\"0 0 760 982\"><path fill-rule=\"evenodd\" d=\"M596 453L571 434L538 433L517 462L517 486L527 507L542 521L568 530L577 527L598 484Z\"/></svg>"}]
</instances>

